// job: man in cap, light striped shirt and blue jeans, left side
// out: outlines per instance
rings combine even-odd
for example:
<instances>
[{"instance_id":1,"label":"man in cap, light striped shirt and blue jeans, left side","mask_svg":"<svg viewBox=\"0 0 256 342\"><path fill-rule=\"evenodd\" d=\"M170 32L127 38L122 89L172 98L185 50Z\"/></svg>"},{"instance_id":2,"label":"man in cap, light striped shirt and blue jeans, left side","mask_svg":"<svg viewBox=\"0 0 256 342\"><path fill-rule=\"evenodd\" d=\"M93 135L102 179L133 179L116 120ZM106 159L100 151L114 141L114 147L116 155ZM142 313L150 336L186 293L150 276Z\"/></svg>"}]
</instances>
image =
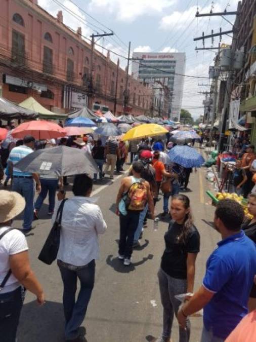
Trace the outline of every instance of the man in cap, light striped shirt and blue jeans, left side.
<instances>
[{"instance_id":1,"label":"man in cap, light striped shirt and blue jeans, left side","mask_svg":"<svg viewBox=\"0 0 256 342\"><path fill-rule=\"evenodd\" d=\"M41 191L40 179L37 173L21 172L15 168L15 164L33 152L35 139L31 135L23 138L24 145L14 147L11 150L8 165L9 172L13 179L12 191L22 195L26 201L24 208L23 232L28 233L32 229L34 217L34 181L36 182L37 192Z\"/></svg>"}]
</instances>

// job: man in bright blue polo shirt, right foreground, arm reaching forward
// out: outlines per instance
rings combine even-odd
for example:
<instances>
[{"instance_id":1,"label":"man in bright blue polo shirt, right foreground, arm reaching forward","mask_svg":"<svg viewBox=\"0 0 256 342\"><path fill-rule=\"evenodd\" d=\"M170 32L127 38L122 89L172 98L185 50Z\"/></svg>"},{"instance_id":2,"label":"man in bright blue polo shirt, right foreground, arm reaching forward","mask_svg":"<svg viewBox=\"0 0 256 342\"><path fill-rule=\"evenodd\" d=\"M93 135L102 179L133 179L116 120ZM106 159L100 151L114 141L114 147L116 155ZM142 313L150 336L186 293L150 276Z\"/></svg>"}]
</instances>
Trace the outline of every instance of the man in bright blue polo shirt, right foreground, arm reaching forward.
<instances>
[{"instance_id":1,"label":"man in bright blue polo shirt, right foreground, arm reaching forward","mask_svg":"<svg viewBox=\"0 0 256 342\"><path fill-rule=\"evenodd\" d=\"M207 260L202 286L179 310L178 321L185 327L187 316L204 308L201 342L223 342L248 312L256 247L240 229L243 219L239 203L218 203L214 221L222 241Z\"/></svg>"}]
</instances>

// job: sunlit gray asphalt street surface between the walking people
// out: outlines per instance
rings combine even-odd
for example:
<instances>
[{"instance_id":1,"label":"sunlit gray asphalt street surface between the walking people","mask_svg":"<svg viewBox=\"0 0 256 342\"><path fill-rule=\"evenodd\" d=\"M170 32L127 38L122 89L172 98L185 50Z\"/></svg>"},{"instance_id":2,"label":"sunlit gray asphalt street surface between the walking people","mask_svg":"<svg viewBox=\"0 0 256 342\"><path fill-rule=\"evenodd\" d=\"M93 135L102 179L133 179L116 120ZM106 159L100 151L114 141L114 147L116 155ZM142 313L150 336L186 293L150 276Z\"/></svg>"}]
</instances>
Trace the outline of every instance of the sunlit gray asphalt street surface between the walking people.
<instances>
[{"instance_id":1,"label":"sunlit gray asphalt street surface between the walking people","mask_svg":"<svg viewBox=\"0 0 256 342\"><path fill-rule=\"evenodd\" d=\"M205 171L198 169L191 174L188 192L192 203L195 224L201 235L201 251L196 263L197 289L202 281L207 256L215 248L218 233L211 227L214 208L209 205L205 191ZM107 232L100 236L101 259L96 263L96 281L83 325L87 329L88 342L142 342L154 341L162 329L157 271L164 249L163 235L166 222L159 222L158 231L153 231L153 221L148 220L141 247L133 253L133 263L124 267L117 259L119 236L118 217L114 214L115 197L121 176L114 181L107 178L94 186L99 197L98 204L107 222ZM68 187L70 190L71 187ZM67 197L71 197L70 191ZM207 205L205 204L207 203ZM162 199L157 203L157 214L162 212ZM47 215L47 203L41 209L41 219L27 237L32 269L44 286L46 304L38 307L35 297L26 294L18 329L19 342L64 341L64 316L62 308L62 281L56 262L48 266L37 259L51 227ZM15 221L19 227L21 221ZM191 319L191 341L199 342L201 318ZM172 340L178 341L178 323L175 320Z\"/></svg>"}]
</instances>

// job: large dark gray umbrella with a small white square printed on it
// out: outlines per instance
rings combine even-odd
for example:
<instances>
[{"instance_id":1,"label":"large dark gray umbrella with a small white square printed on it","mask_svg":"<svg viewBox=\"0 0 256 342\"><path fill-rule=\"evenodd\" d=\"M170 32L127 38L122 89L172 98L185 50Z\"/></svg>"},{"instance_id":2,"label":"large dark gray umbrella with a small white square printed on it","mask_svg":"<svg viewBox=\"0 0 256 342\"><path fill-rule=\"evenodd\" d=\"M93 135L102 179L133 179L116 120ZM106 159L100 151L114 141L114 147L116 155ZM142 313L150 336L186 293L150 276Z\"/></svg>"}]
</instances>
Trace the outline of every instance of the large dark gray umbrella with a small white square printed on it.
<instances>
[{"instance_id":1,"label":"large dark gray umbrella with a small white square printed on it","mask_svg":"<svg viewBox=\"0 0 256 342\"><path fill-rule=\"evenodd\" d=\"M67 146L38 149L15 164L15 167L23 172L52 176L72 176L81 173L93 176L99 172L90 153Z\"/></svg>"}]
</instances>

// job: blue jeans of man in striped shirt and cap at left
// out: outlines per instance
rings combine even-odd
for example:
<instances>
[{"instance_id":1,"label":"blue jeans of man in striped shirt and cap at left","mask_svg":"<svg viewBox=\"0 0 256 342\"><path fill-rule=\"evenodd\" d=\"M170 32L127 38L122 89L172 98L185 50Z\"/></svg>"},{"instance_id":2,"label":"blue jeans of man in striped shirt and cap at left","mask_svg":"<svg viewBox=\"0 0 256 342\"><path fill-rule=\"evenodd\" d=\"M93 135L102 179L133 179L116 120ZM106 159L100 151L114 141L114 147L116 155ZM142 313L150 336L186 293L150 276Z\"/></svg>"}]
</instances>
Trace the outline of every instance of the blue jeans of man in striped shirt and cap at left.
<instances>
[{"instance_id":1,"label":"blue jeans of man in striped shirt and cap at left","mask_svg":"<svg viewBox=\"0 0 256 342\"><path fill-rule=\"evenodd\" d=\"M32 227L34 217L34 181L33 178L13 178L12 191L16 191L24 197L26 205L23 217L23 229L29 230Z\"/></svg>"}]
</instances>

